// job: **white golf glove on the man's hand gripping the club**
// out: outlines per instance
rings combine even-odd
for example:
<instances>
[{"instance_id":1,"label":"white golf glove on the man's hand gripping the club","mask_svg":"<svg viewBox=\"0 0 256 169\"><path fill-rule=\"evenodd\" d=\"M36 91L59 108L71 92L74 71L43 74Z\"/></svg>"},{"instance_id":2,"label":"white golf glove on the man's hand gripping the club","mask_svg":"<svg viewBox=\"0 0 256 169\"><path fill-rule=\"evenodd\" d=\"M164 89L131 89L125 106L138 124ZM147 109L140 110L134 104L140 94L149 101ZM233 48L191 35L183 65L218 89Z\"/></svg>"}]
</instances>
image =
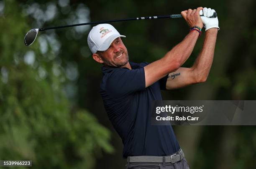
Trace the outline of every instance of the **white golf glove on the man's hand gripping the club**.
<instances>
[{"instance_id":1,"label":"white golf glove on the man's hand gripping the club","mask_svg":"<svg viewBox=\"0 0 256 169\"><path fill-rule=\"evenodd\" d=\"M220 30L218 17L211 17L214 12L215 10L207 7L204 7L203 10L200 10L199 12L200 15L202 14L204 15L204 16L201 16L201 19L204 24L205 31L207 31L212 27L217 27L218 30Z\"/></svg>"}]
</instances>

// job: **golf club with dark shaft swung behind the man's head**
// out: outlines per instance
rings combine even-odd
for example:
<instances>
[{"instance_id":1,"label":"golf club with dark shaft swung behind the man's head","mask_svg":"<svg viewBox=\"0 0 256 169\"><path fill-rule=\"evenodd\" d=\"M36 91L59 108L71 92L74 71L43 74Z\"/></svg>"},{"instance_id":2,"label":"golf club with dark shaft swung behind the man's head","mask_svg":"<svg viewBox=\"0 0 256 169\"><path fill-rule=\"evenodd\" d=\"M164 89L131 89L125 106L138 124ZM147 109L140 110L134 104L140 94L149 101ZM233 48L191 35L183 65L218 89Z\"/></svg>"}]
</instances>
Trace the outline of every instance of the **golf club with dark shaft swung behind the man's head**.
<instances>
[{"instance_id":1,"label":"golf club with dark shaft swung behind the man's head","mask_svg":"<svg viewBox=\"0 0 256 169\"><path fill-rule=\"evenodd\" d=\"M203 15L200 15L200 16L203 16ZM211 17L217 17L217 13L214 12L214 14ZM74 25L31 29L25 35L24 43L26 46L31 45L36 40L38 32L44 31L44 30L58 29L58 28L64 28L64 27L74 27L74 26L81 26L81 25L93 25L93 24L108 23L108 22L121 22L121 21L129 21L129 20L151 20L151 19L163 19L163 18L182 18L182 15L175 14L175 15L152 16L152 17L135 17L135 18L121 19L121 20L105 20L105 21L99 21L99 22L87 22L87 23L79 23Z\"/></svg>"}]
</instances>

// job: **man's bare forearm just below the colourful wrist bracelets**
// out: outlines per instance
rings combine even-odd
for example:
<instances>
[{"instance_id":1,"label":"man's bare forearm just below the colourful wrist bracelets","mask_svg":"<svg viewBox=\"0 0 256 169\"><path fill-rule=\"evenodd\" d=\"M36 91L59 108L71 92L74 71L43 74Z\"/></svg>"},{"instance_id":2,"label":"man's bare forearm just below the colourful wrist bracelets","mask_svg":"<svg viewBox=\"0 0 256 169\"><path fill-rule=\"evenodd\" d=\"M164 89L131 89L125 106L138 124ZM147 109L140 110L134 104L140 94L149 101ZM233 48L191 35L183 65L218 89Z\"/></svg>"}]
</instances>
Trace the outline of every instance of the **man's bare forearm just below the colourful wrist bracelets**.
<instances>
[{"instance_id":1,"label":"man's bare forearm just below the colourful wrist bracelets","mask_svg":"<svg viewBox=\"0 0 256 169\"><path fill-rule=\"evenodd\" d=\"M186 60L191 55L197 42L198 35L199 33L197 31L189 32L189 34L184 38L184 40L182 40L182 42L167 52L167 54L164 56L164 59L170 63L178 62L179 67L183 65L183 63L186 62Z\"/></svg>"}]
</instances>

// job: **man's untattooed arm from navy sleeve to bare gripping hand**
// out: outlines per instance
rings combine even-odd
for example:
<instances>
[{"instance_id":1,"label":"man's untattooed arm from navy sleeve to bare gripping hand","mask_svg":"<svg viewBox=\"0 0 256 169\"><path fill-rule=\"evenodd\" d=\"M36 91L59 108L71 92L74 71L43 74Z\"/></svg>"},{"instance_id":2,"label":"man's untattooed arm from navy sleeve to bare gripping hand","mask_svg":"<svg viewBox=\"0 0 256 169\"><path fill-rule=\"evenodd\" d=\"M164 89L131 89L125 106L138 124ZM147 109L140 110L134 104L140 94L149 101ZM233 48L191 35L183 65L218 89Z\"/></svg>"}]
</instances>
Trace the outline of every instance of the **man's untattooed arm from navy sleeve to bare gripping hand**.
<instances>
[{"instance_id":1,"label":"man's untattooed arm from navy sleeve to bare gripping hand","mask_svg":"<svg viewBox=\"0 0 256 169\"><path fill-rule=\"evenodd\" d=\"M198 26L202 28L203 23L199 15L202 9L202 7L198 7L196 10L189 9L181 12L189 27ZM146 87L152 85L170 72L179 69L191 55L198 35L199 33L197 31L189 32L184 40L167 52L163 58L144 67Z\"/></svg>"}]
</instances>

